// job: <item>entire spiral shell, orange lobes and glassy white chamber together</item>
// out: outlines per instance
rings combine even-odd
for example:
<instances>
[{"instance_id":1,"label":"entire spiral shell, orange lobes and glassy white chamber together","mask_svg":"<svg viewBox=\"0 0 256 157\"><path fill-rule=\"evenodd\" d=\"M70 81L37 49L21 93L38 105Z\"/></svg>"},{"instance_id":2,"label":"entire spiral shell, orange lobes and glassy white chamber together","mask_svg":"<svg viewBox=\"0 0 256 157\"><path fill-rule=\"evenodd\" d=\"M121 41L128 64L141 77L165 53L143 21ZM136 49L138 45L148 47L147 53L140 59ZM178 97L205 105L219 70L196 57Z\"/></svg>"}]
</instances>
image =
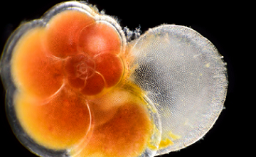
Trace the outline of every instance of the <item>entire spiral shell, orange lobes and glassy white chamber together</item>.
<instances>
[{"instance_id":1,"label":"entire spiral shell, orange lobes and glassy white chamber together","mask_svg":"<svg viewBox=\"0 0 256 157\"><path fill-rule=\"evenodd\" d=\"M38 156L157 156L201 139L227 72L209 40L162 25L129 43L119 23L70 1L23 23L1 57L6 114Z\"/></svg>"}]
</instances>

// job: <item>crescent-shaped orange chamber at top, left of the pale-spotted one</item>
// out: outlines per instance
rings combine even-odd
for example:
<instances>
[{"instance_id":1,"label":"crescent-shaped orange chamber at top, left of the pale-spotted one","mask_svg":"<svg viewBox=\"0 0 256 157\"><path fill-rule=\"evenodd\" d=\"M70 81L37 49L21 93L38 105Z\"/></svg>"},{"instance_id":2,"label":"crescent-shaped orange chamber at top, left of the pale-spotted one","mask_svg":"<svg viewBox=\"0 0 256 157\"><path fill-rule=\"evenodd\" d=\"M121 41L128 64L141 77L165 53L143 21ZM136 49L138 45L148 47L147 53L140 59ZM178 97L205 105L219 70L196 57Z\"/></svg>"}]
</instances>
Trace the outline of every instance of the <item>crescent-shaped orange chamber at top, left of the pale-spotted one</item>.
<instances>
[{"instance_id":1,"label":"crescent-shaped orange chamber at top, left of the pale-spotted one","mask_svg":"<svg viewBox=\"0 0 256 157\"><path fill-rule=\"evenodd\" d=\"M46 45L58 58L78 53L80 31L95 23L86 13L67 10L55 15L46 26Z\"/></svg>"}]
</instances>

